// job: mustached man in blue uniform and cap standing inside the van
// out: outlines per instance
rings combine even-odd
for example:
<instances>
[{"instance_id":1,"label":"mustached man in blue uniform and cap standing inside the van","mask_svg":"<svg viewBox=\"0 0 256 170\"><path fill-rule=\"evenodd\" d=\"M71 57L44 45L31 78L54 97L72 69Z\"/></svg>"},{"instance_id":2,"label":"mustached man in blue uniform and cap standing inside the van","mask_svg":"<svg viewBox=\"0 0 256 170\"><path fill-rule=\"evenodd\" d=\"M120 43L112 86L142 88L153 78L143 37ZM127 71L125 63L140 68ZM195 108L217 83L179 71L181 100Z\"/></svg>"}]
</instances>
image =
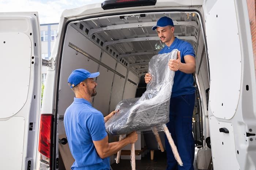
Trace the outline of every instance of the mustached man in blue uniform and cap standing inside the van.
<instances>
[{"instance_id":1,"label":"mustached man in blue uniform and cap standing inside the van","mask_svg":"<svg viewBox=\"0 0 256 170\"><path fill-rule=\"evenodd\" d=\"M159 54L169 53L178 49L176 60L170 60L170 70L176 71L170 99L170 121L167 127L177 146L183 166L177 165L170 145L165 137L167 153L167 170L193 170L195 143L192 134L192 116L195 104L195 88L193 87L193 72L196 69L195 52L191 44L174 36L174 24L169 17L162 17L157 21L156 29L165 47ZM145 82L151 80L150 73L145 75Z\"/></svg>"}]
</instances>

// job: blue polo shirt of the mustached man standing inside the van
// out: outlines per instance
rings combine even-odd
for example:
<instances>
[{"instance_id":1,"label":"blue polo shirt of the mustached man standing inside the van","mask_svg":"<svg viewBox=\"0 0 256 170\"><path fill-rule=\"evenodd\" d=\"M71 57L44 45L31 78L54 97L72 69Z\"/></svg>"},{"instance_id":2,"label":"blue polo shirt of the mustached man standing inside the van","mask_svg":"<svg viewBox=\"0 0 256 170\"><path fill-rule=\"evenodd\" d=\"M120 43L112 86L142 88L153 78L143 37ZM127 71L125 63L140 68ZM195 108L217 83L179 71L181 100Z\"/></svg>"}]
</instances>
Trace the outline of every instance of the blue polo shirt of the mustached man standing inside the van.
<instances>
[{"instance_id":1,"label":"blue polo shirt of the mustached man standing inside the van","mask_svg":"<svg viewBox=\"0 0 256 170\"><path fill-rule=\"evenodd\" d=\"M159 51L158 54L169 53L174 49L178 49L180 51L181 63L185 63L185 55L191 55L195 57L195 52L191 44L187 41L180 40L177 37L175 37L170 47L165 46L161 51ZM186 74L179 70L176 71L174 75L171 98L180 95L194 94L195 87L193 87L193 82L194 79L192 74Z\"/></svg>"}]
</instances>

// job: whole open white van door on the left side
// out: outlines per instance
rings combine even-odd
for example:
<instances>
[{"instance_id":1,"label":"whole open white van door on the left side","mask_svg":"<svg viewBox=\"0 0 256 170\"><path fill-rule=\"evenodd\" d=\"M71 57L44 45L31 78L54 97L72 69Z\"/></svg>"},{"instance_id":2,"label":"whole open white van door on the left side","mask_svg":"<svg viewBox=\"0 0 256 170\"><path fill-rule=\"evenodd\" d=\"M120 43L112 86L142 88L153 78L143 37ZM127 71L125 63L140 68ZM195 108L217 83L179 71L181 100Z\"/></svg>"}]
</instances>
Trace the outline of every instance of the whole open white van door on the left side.
<instances>
[{"instance_id":1,"label":"whole open white van door on the left side","mask_svg":"<svg viewBox=\"0 0 256 170\"><path fill-rule=\"evenodd\" d=\"M0 169L35 169L40 46L37 12L0 13Z\"/></svg>"}]
</instances>

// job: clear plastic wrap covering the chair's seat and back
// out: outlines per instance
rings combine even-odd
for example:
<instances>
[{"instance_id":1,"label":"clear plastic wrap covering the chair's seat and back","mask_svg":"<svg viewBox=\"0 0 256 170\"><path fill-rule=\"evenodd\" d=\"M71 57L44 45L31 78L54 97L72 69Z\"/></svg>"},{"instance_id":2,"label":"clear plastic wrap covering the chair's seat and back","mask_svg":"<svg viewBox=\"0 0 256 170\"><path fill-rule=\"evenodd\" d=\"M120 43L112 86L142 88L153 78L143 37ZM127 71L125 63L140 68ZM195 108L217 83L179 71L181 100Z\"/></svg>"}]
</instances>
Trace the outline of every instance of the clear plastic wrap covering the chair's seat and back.
<instances>
[{"instance_id":1,"label":"clear plastic wrap covering the chair's seat and back","mask_svg":"<svg viewBox=\"0 0 256 170\"><path fill-rule=\"evenodd\" d=\"M169 122L170 96L174 71L168 67L170 59L177 58L178 50L158 54L151 58L148 72L152 79L140 98L126 99L116 106L116 114L105 123L112 135L129 134L132 131L160 128Z\"/></svg>"}]
</instances>

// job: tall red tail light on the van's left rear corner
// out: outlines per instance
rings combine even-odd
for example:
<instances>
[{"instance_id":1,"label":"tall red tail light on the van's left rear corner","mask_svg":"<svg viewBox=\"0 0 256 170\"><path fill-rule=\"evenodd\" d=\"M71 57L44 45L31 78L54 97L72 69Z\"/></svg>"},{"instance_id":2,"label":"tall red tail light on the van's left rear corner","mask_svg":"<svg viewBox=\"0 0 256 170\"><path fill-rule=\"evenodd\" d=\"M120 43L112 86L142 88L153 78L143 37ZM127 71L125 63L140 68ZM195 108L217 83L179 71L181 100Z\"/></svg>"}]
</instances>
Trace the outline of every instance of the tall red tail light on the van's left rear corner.
<instances>
[{"instance_id":1,"label":"tall red tail light on the van's left rear corner","mask_svg":"<svg viewBox=\"0 0 256 170\"><path fill-rule=\"evenodd\" d=\"M42 155L45 155L45 157L49 159L51 154L51 127L52 114L41 114L38 150Z\"/></svg>"}]
</instances>

